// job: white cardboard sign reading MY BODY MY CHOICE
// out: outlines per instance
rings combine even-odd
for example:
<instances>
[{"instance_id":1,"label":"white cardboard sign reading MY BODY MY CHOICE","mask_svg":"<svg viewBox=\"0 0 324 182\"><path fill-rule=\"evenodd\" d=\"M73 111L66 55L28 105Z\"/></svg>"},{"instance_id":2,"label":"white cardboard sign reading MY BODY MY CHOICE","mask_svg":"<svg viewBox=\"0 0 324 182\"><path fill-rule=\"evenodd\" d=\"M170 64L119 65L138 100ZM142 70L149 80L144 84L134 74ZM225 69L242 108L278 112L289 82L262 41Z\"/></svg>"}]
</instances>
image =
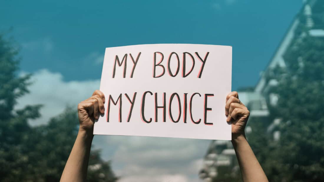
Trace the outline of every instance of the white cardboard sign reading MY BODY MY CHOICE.
<instances>
[{"instance_id":1,"label":"white cardboard sign reading MY BODY MY CHOICE","mask_svg":"<svg viewBox=\"0 0 324 182\"><path fill-rule=\"evenodd\" d=\"M231 140L225 116L231 76L231 46L106 48L105 114L93 134Z\"/></svg>"}]
</instances>

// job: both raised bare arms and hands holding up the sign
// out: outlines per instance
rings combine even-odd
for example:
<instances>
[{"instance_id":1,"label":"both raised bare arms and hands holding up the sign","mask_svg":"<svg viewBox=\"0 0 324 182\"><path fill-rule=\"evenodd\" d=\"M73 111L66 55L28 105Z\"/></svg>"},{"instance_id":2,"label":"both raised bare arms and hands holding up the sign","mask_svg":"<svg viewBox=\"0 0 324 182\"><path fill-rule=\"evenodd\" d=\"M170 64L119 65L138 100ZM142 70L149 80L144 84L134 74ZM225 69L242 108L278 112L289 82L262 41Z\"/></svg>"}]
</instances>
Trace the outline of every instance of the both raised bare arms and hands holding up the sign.
<instances>
[{"instance_id":1,"label":"both raised bare arms and hands holding up the sign","mask_svg":"<svg viewBox=\"0 0 324 182\"><path fill-rule=\"evenodd\" d=\"M90 148L93 139L93 124L104 113L105 96L96 90L92 97L78 104L80 128L71 154L64 167L61 181L86 181ZM227 122L232 121L232 144L239 163L243 181L268 181L262 167L245 138L244 128L249 110L238 99L237 92L226 97Z\"/></svg>"}]
</instances>

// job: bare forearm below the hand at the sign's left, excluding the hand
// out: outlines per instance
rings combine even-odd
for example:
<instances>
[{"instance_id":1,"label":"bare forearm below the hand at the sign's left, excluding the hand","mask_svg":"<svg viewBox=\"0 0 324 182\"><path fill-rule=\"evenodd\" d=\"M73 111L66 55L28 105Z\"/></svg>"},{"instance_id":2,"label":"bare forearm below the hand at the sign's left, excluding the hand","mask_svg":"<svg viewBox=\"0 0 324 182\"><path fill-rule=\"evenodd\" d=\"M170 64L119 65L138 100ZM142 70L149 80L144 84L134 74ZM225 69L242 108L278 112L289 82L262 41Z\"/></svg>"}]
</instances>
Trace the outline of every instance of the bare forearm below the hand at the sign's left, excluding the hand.
<instances>
[{"instance_id":1,"label":"bare forearm below the hand at the sign's left, excluding the hand","mask_svg":"<svg viewBox=\"0 0 324 182\"><path fill-rule=\"evenodd\" d=\"M86 181L92 132L79 130L71 154L66 162L61 181Z\"/></svg>"}]
</instances>

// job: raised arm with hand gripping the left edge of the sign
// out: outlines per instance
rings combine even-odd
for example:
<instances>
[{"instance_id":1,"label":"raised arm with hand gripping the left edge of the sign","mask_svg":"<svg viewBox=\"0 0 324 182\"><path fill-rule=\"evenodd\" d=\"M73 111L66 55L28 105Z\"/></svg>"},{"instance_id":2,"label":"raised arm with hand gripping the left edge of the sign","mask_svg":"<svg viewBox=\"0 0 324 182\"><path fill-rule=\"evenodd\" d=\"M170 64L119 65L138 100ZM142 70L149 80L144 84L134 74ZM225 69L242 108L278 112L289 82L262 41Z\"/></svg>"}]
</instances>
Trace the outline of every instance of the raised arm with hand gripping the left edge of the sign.
<instances>
[{"instance_id":1,"label":"raised arm with hand gripping the left edge of the sign","mask_svg":"<svg viewBox=\"0 0 324 182\"><path fill-rule=\"evenodd\" d=\"M71 154L64 167L61 181L86 181L93 139L93 124L104 113L105 96L96 90L92 97L78 104L80 128Z\"/></svg>"}]
</instances>

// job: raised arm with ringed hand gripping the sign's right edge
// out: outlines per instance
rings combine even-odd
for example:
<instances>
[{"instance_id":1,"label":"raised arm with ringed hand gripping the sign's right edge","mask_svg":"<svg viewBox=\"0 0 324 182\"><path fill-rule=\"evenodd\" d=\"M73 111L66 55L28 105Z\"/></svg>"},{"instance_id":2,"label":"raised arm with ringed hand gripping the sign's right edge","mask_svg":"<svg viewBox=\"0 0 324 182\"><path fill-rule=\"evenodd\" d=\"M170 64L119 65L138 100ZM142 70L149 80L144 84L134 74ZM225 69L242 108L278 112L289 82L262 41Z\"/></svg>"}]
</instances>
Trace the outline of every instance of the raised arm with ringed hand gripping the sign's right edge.
<instances>
[{"instance_id":1,"label":"raised arm with ringed hand gripping the sign's right edge","mask_svg":"<svg viewBox=\"0 0 324 182\"><path fill-rule=\"evenodd\" d=\"M255 157L245 137L245 126L250 112L238 99L236 91L230 92L226 97L226 121L232 121L232 144L235 149L237 161L241 169L243 181L268 181L258 159Z\"/></svg>"}]
</instances>

